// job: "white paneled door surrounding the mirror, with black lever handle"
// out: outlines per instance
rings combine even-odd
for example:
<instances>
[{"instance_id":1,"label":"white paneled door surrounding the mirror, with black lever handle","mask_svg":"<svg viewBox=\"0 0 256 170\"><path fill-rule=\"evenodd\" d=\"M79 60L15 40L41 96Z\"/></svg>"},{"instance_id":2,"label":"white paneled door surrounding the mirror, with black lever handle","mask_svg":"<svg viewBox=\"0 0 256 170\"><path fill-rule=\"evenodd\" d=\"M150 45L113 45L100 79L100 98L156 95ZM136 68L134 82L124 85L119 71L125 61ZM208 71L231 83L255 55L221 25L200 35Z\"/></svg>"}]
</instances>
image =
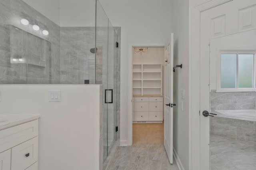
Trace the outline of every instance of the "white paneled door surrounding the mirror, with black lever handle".
<instances>
[{"instance_id":1,"label":"white paneled door surrounding the mirror, with black lever handle","mask_svg":"<svg viewBox=\"0 0 256 170\"><path fill-rule=\"evenodd\" d=\"M230 43L222 47L211 47L210 40L231 34L238 34L256 28L256 1L232 0L201 13L200 25L200 170L210 169L210 119L203 111L211 112L210 92L218 89L217 77L218 55L212 56L214 50L231 49ZM238 40L240 41L240 40ZM220 43L218 43L220 45ZM237 46L236 46L236 49ZM234 48L233 48L234 50ZM216 57L216 58L214 58ZM215 71L214 71L215 69ZM211 76L210 76L211 75ZM214 115L212 115L214 116ZM212 167L211 169L216 169Z\"/></svg>"}]
</instances>

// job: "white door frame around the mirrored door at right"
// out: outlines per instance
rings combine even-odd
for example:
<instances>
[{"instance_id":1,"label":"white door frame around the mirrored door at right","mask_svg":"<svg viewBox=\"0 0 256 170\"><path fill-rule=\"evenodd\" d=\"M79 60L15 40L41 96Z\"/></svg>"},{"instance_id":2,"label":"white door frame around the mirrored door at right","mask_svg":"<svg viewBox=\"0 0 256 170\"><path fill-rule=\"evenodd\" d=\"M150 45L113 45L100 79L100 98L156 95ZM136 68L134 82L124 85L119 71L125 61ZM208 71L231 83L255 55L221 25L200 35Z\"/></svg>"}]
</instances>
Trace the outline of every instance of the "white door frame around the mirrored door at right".
<instances>
[{"instance_id":1,"label":"white door frame around the mirrored door at right","mask_svg":"<svg viewBox=\"0 0 256 170\"><path fill-rule=\"evenodd\" d=\"M189 16L189 167L200 170L200 17L201 12L232 0L211 0L190 7ZM191 4L190 4L191 5Z\"/></svg>"}]
</instances>

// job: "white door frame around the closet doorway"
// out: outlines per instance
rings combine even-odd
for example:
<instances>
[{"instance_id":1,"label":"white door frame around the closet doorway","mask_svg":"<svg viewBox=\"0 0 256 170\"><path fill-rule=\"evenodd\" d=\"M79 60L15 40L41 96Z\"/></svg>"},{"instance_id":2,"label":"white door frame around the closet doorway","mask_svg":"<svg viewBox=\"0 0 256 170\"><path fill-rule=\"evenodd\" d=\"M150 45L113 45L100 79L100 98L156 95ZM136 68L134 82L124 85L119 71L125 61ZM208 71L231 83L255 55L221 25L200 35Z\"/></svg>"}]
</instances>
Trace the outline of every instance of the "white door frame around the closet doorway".
<instances>
[{"instance_id":1,"label":"white door frame around the closet doorway","mask_svg":"<svg viewBox=\"0 0 256 170\"><path fill-rule=\"evenodd\" d=\"M128 44L128 89L127 89L127 145L132 145L132 53L133 47L164 47L166 42L163 43L129 43ZM121 143L125 145L125 143ZM126 145L126 146L127 146Z\"/></svg>"}]
</instances>

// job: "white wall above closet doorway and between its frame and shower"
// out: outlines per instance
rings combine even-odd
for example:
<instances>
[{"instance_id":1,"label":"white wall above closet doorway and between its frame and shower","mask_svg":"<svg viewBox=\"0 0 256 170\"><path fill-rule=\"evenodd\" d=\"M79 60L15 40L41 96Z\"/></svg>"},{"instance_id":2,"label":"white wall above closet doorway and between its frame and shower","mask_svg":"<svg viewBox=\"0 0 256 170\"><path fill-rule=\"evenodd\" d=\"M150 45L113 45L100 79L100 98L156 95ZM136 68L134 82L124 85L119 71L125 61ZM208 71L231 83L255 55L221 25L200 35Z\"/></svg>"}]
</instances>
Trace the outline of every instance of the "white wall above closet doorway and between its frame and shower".
<instances>
[{"instance_id":1,"label":"white wall above closet doorway and between its frame and shower","mask_svg":"<svg viewBox=\"0 0 256 170\"><path fill-rule=\"evenodd\" d=\"M165 43L170 36L170 0L100 0L113 26L121 26L120 141L127 141L127 70L130 43Z\"/></svg>"}]
</instances>

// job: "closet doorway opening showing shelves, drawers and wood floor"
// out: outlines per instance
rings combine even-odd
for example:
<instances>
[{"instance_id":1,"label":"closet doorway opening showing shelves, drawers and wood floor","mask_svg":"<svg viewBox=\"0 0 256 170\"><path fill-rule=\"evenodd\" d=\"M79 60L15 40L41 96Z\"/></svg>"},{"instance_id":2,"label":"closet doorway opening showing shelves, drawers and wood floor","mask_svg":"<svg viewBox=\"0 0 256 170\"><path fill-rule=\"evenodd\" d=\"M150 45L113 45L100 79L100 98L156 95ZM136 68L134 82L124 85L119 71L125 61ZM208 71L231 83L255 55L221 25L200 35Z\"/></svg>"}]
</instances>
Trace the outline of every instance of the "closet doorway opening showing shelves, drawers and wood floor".
<instances>
[{"instance_id":1,"label":"closet doorway opening showing shelves, drawers and wood floor","mask_svg":"<svg viewBox=\"0 0 256 170\"><path fill-rule=\"evenodd\" d=\"M133 47L132 144L164 144L164 47Z\"/></svg>"}]
</instances>

